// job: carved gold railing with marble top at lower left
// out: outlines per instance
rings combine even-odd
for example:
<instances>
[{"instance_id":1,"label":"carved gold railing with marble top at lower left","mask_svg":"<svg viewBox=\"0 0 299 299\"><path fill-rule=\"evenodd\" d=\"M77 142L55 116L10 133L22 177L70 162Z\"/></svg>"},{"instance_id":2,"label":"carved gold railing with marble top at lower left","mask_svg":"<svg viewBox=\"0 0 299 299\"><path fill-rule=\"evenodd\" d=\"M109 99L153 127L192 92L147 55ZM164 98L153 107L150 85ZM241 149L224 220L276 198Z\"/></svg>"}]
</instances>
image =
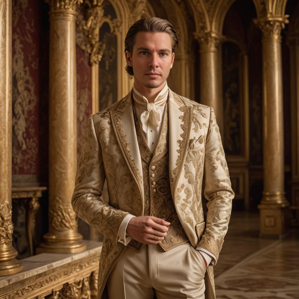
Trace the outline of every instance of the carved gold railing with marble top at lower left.
<instances>
[{"instance_id":1,"label":"carved gold railing with marble top at lower left","mask_svg":"<svg viewBox=\"0 0 299 299\"><path fill-rule=\"evenodd\" d=\"M0 277L0 299L96 299L102 243L84 242L84 252L42 253L21 260L21 272Z\"/></svg>"}]
</instances>

